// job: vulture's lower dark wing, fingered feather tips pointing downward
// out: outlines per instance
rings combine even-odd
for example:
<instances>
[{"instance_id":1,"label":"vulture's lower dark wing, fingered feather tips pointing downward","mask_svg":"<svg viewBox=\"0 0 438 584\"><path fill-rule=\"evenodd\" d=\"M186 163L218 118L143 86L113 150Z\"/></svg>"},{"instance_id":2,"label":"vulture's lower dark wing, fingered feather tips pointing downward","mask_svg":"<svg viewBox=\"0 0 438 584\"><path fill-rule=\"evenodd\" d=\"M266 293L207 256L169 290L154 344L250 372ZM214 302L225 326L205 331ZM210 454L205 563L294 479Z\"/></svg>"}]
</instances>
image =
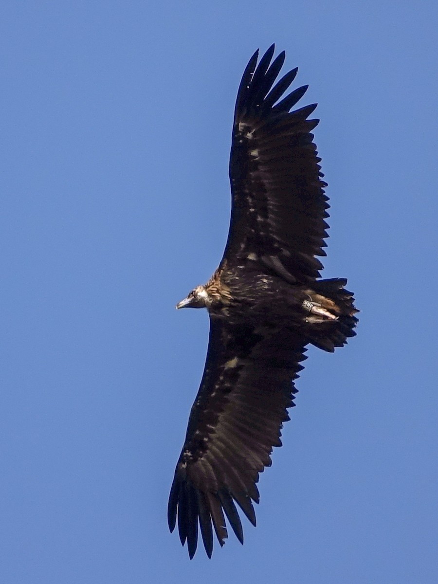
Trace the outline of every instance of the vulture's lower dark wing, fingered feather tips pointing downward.
<instances>
[{"instance_id":1,"label":"vulture's lower dark wing, fingered feather tips pointing downward","mask_svg":"<svg viewBox=\"0 0 438 584\"><path fill-rule=\"evenodd\" d=\"M206 366L190 412L186 441L175 470L168 521L197 547L198 522L208 557L213 530L227 537L224 513L239 541L242 525L235 502L255 525L252 501L259 502L259 473L271 464L273 446L293 405L292 381L303 369L305 340L289 329L269 332L233 328L210 318Z\"/></svg>"}]
</instances>

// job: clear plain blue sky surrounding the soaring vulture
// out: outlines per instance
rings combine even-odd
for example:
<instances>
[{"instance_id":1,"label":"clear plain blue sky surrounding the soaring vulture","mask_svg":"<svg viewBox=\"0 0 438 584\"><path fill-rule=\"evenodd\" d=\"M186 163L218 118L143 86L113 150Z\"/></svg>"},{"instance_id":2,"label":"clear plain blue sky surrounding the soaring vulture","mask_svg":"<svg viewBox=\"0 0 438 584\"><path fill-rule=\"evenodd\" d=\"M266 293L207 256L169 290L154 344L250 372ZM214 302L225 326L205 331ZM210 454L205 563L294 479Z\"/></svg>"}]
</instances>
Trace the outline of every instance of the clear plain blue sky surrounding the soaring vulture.
<instances>
[{"instance_id":1,"label":"clear plain blue sky surrounding the soaring vulture","mask_svg":"<svg viewBox=\"0 0 438 584\"><path fill-rule=\"evenodd\" d=\"M2 2L2 584L438 582L437 6ZM208 319L175 304L222 256L272 42L319 103L360 324L310 349L244 547L190 562L166 502Z\"/></svg>"}]
</instances>

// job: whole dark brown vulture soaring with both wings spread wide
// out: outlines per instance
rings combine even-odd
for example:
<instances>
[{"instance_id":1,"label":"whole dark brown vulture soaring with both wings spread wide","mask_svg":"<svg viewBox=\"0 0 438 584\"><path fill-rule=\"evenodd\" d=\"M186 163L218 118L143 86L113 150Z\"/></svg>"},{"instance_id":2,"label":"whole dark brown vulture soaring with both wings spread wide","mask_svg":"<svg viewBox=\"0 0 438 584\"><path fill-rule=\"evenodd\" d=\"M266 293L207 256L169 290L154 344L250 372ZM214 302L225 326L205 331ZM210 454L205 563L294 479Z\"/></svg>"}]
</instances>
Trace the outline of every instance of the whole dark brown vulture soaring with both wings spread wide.
<instances>
[{"instance_id":1,"label":"whole dark brown vulture soaring with both wings spread wide","mask_svg":"<svg viewBox=\"0 0 438 584\"><path fill-rule=\"evenodd\" d=\"M309 343L346 344L357 323L346 279L321 279L329 217L308 119L316 104L291 111L307 85L287 93L285 53L256 51L237 93L230 156L231 221L224 256L210 280L176 308L207 308L210 338L168 504L189 557L202 537L208 557L227 524L243 543L241 512L254 526L259 474L281 446L294 380Z\"/></svg>"}]
</instances>

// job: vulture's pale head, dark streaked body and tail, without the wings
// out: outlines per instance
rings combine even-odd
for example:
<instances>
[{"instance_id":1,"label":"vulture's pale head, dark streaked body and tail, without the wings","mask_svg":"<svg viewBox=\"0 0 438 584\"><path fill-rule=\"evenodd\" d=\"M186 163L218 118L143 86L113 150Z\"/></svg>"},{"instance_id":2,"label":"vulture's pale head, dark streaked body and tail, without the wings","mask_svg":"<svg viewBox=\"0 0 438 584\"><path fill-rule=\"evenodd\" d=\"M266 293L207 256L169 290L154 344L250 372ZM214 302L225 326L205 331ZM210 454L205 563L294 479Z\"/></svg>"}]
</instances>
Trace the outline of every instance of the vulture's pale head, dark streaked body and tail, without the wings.
<instances>
[{"instance_id":1,"label":"vulture's pale head, dark streaked body and tail, without the wings","mask_svg":"<svg viewBox=\"0 0 438 584\"><path fill-rule=\"evenodd\" d=\"M291 328L307 331L312 342L314 336L328 331L343 346L347 336L353 336L356 325L352 293L343 288L346 280L320 280L316 285L291 284L276 274L260 272L247 260L234 268L222 262L204 286L194 288L193 295L182 300L178 308L207 308L210 318L224 319L228 324L260 324L269 330ZM324 296L326 294L326 296ZM336 322L330 322L336 321ZM321 328L321 324L325 328ZM317 346L317 341L315 343Z\"/></svg>"}]
</instances>

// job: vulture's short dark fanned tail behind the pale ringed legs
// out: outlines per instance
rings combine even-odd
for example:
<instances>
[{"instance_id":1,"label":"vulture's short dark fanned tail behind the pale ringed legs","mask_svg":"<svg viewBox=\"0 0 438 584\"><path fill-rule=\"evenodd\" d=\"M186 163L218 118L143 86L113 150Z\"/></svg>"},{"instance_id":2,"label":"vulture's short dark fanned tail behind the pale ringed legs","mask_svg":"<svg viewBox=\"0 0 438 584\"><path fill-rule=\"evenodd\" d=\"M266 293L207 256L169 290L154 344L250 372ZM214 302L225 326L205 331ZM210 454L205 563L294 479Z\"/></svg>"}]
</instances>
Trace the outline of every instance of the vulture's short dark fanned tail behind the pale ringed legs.
<instances>
[{"instance_id":1,"label":"vulture's short dark fanned tail behind the pale ringed legs","mask_svg":"<svg viewBox=\"0 0 438 584\"><path fill-rule=\"evenodd\" d=\"M336 319L310 324L310 342L315 347L331 353L335 347L346 345L348 337L356 336L354 328L358 319L354 315L359 310L354 308L353 293L344 288L346 283L345 278L331 278L319 280L312 285L315 291L312 300L335 315Z\"/></svg>"}]
</instances>

